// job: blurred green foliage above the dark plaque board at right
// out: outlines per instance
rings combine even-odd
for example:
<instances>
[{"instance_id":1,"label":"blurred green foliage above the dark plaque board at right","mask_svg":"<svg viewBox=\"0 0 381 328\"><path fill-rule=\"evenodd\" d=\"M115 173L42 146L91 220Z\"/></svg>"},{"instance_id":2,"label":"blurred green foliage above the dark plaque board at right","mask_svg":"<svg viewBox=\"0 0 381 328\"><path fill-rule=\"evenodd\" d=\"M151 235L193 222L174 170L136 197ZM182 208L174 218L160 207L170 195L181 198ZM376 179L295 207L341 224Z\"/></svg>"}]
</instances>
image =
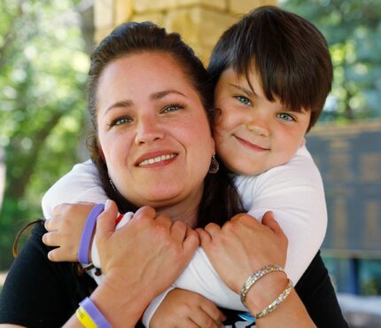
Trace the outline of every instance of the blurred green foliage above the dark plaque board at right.
<instances>
[{"instance_id":1,"label":"blurred green foliage above the dark plaque board at right","mask_svg":"<svg viewBox=\"0 0 381 328\"><path fill-rule=\"evenodd\" d=\"M333 89L322 120L381 116L381 2L284 0L284 9L311 20L330 45Z\"/></svg>"}]
</instances>

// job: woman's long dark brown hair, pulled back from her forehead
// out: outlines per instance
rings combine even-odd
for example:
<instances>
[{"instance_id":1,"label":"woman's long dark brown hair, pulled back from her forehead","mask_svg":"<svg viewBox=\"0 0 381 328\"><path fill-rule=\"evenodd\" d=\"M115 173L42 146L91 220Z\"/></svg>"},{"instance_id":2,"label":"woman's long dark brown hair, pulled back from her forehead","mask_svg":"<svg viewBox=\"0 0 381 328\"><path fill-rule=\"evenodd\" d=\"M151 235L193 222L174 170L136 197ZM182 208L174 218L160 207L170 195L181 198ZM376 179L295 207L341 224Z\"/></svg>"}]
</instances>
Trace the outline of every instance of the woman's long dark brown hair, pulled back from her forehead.
<instances>
[{"instance_id":1,"label":"woman's long dark brown hair, pulled back from her forehead","mask_svg":"<svg viewBox=\"0 0 381 328\"><path fill-rule=\"evenodd\" d=\"M213 85L206 68L176 33L167 33L164 28L151 22L128 22L116 27L99 43L91 54L88 83L88 105L92 121L89 137L90 157L96 164L100 180L110 199L118 204L121 212L135 211L136 207L113 188L107 173L107 165L101 155L97 141L97 92L98 82L105 67L116 59L131 54L157 51L167 54L183 69L184 76L198 91L198 96L206 110L209 122L213 119ZM197 127L195 127L197 129ZM126 182L128 184L128 182ZM217 174L207 174L204 194L199 205L198 226L214 222L223 224L233 215L242 212L237 190L226 168L221 165Z\"/></svg>"}]
</instances>

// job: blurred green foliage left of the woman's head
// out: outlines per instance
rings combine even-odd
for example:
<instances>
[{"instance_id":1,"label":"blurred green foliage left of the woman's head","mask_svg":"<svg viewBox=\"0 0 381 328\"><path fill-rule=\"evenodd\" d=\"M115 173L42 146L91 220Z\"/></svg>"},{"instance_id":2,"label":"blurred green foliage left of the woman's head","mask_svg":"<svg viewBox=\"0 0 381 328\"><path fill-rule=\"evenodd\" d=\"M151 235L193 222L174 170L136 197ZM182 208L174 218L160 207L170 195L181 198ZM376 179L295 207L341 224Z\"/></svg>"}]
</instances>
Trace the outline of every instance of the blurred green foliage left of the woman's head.
<instances>
[{"instance_id":1,"label":"blurred green foliage left of the woman's head","mask_svg":"<svg viewBox=\"0 0 381 328\"><path fill-rule=\"evenodd\" d=\"M0 269L12 262L15 232L42 215L43 192L80 160L89 56L78 3L0 2Z\"/></svg>"}]
</instances>

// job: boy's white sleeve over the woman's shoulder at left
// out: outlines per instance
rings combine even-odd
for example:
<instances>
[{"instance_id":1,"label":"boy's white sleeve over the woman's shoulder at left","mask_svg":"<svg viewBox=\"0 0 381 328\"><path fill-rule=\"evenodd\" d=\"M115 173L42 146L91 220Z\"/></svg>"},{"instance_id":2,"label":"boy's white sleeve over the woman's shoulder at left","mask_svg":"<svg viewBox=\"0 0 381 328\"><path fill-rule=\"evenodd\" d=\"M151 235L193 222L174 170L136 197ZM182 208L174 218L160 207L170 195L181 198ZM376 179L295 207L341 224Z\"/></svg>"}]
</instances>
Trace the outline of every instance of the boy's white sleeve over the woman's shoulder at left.
<instances>
[{"instance_id":1,"label":"boy's white sleeve over the woman's shoulder at left","mask_svg":"<svg viewBox=\"0 0 381 328\"><path fill-rule=\"evenodd\" d=\"M97 168L91 160L74 165L74 168L46 191L43 196L43 216L51 218L54 207L62 203L89 201L105 203L107 196L103 190Z\"/></svg>"}]
</instances>

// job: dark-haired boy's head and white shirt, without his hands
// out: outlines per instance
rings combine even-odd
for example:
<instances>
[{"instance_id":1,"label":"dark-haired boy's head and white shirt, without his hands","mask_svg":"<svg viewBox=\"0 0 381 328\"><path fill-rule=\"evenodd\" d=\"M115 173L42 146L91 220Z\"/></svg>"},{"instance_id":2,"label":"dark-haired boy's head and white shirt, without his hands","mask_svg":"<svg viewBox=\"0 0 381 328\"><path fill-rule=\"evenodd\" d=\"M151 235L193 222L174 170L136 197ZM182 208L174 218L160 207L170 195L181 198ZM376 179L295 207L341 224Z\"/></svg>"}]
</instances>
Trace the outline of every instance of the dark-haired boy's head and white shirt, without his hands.
<instances>
[{"instance_id":1,"label":"dark-haired boy's head and white shirt, without his hands","mask_svg":"<svg viewBox=\"0 0 381 328\"><path fill-rule=\"evenodd\" d=\"M268 210L274 212L289 239L285 269L297 283L321 246L327 224L322 179L304 145L330 91L327 43L307 20L261 7L222 35L208 71L216 85L217 152L237 173L248 213L260 219ZM50 218L60 203L106 199L97 169L88 161L51 187L43 213ZM99 265L96 257L93 252ZM174 287L200 293L223 308L245 310L201 249ZM146 326L166 294L147 308Z\"/></svg>"}]
</instances>

